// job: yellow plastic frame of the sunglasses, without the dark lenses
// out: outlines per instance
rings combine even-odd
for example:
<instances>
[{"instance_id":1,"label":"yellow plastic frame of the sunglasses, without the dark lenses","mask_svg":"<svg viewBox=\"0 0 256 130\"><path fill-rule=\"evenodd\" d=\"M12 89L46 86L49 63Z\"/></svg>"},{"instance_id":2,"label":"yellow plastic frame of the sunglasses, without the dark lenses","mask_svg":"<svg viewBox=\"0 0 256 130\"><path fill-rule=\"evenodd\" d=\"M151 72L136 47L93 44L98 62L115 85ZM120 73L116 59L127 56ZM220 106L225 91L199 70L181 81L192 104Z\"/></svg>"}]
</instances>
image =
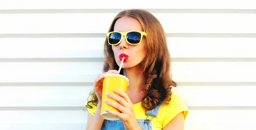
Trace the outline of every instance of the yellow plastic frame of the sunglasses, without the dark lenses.
<instances>
[{"instance_id":1,"label":"yellow plastic frame of the sunglasses, without the dark lenses","mask_svg":"<svg viewBox=\"0 0 256 130\"><path fill-rule=\"evenodd\" d=\"M132 43L128 42L128 40L127 40L127 34L130 33L130 32L138 32L138 33L141 34L140 42L139 42L139 43L132 44ZM108 38L111 33L120 33L120 34L121 34L121 40L120 40L119 42L117 42L116 44L111 44L111 43L109 42L109 38ZM108 44L109 44L109 45L118 45L119 43L122 42L122 39L123 39L122 37L125 36L125 41L126 41L128 44L130 44L130 45L138 45L138 44L141 43L141 41L142 41L142 39L143 39L143 35L144 35L145 37L147 37L147 33L145 33L144 31L127 31L127 32L111 31L111 32L108 32L108 33L107 33Z\"/></svg>"}]
</instances>

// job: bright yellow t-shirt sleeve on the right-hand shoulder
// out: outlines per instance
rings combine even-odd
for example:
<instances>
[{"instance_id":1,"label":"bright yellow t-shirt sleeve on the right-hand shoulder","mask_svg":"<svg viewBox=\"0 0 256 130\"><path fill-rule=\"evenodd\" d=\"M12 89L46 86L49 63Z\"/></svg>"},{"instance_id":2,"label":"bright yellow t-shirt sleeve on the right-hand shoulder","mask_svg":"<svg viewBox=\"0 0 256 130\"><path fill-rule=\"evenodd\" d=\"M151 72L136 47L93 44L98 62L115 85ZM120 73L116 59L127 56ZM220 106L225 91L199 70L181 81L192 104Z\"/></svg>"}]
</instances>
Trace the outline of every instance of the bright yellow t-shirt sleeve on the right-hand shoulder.
<instances>
[{"instance_id":1,"label":"bright yellow t-shirt sleeve on the right-hand shoulder","mask_svg":"<svg viewBox=\"0 0 256 130\"><path fill-rule=\"evenodd\" d=\"M178 113L184 112L184 119L186 119L186 116L189 113L184 100L175 92L172 92L170 104L164 107L163 127L174 119Z\"/></svg>"}]
</instances>

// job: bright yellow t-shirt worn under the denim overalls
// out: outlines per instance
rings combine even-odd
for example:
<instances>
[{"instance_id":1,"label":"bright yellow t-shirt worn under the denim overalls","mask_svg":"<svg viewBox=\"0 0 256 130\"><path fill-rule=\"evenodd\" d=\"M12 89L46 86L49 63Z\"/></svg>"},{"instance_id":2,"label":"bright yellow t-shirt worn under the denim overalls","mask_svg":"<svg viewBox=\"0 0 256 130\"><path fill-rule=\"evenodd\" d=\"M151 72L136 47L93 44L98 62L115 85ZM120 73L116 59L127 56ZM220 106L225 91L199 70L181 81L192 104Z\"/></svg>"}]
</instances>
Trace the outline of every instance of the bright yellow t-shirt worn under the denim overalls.
<instances>
[{"instance_id":1,"label":"bright yellow t-shirt worn under the denim overalls","mask_svg":"<svg viewBox=\"0 0 256 130\"><path fill-rule=\"evenodd\" d=\"M145 110L143 110L141 102L134 104L134 113L136 119L146 119ZM87 109L89 113L93 116L96 112L96 106L93 106L91 109ZM188 107L186 106L183 99L177 95L177 93L172 92L171 101L169 105L161 105L157 118L152 119L152 128L153 130L162 130L178 113L184 112L184 118L189 113ZM151 119L151 116L148 116L148 119Z\"/></svg>"}]
</instances>

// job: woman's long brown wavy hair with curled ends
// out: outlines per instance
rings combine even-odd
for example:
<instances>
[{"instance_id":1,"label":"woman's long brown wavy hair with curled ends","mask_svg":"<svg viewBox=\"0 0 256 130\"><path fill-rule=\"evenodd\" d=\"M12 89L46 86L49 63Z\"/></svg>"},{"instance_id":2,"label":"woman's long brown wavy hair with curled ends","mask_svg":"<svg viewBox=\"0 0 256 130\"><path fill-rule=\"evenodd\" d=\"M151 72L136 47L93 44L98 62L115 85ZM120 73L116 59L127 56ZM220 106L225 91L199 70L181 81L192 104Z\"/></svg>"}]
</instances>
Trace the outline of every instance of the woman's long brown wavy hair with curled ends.
<instances>
[{"instance_id":1,"label":"woman's long brown wavy hair with curled ends","mask_svg":"<svg viewBox=\"0 0 256 130\"><path fill-rule=\"evenodd\" d=\"M146 83L142 90L145 95L142 99L142 106L145 113L154 109L160 102L169 104L172 95L172 86L176 87L176 83L171 77L171 58L166 43L166 36L159 20L149 11L142 9L128 9L121 11L113 19L108 32L113 31L113 27L120 17L132 17L140 22L143 31L147 33L145 37L145 59L140 63L143 74L146 76ZM108 39L105 39L104 45L105 62L103 72L108 70L118 70L119 66L114 59L111 45ZM122 74L122 70L120 72ZM92 99L89 99L92 97ZM97 105L98 99L94 91L90 92L86 107L92 108L91 105Z\"/></svg>"}]
</instances>

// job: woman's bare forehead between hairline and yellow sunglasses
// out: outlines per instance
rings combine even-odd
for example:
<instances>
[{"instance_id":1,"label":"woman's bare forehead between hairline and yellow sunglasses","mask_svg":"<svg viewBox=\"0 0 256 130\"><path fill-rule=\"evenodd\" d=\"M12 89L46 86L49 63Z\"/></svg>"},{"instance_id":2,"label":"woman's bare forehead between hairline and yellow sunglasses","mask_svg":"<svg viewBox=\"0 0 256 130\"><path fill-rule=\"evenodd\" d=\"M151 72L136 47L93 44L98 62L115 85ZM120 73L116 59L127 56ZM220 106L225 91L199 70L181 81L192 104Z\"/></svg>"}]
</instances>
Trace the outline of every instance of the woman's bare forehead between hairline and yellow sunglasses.
<instances>
[{"instance_id":1,"label":"woman's bare forehead between hairline and yellow sunglasses","mask_svg":"<svg viewBox=\"0 0 256 130\"><path fill-rule=\"evenodd\" d=\"M132 17L121 17L116 20L114 31L143 31L140 22Z\"/></svg>"}]
</instances>

